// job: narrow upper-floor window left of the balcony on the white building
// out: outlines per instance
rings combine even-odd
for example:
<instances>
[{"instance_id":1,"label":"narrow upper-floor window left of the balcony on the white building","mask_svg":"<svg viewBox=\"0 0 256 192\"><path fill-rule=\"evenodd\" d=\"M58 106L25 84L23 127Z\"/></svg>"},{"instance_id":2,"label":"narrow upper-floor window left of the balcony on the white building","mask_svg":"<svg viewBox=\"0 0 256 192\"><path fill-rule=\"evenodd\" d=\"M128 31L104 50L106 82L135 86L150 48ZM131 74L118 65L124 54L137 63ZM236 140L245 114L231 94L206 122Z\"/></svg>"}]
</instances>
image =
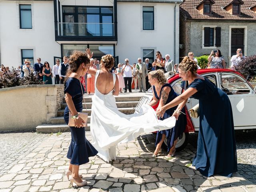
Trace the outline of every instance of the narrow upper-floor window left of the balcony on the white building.
<instances>
[{"instance_id":1,"label":"narrow upper-floor window left of the balcony on the white building","mask_svg":"<svg viewBox=\"0 0 256 192\"><path fill-rule=\"evenodd\" d=\"M32 29L31 5L20 4L20 28Z\"/></svg>"}]
</instances>

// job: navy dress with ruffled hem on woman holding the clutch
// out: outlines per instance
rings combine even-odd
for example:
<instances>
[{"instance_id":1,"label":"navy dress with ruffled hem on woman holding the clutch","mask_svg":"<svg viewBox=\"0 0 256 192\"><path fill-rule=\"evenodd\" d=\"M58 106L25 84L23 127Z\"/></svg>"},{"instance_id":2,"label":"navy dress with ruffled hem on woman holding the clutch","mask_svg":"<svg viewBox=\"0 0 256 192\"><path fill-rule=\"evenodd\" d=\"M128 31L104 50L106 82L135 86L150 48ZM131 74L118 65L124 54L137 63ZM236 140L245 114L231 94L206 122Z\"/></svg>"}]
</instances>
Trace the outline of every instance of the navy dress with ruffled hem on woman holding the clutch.
<instances>
[{"instance_id":1,"label":"navy dress with ruffled hem on woman holding the clutch","mask_svg":"<svg viewBox=\"0 0 256 192\"><path fill-rule=\"evenodd\" d=\"M84 93L84 86L82 86ZM83 94L81 90L80 80L77 78L68 78L65 84L64 92L72 96L75 108L78 112L82 112ZM66 106L64 110L64 120L68 124L69 109ZM70 127L71 143L68 149L67 158L73 165L81 165L89 162L89 157L95 156L98 151L85 138L85 128Z\"/></svg>"}]
</instances>

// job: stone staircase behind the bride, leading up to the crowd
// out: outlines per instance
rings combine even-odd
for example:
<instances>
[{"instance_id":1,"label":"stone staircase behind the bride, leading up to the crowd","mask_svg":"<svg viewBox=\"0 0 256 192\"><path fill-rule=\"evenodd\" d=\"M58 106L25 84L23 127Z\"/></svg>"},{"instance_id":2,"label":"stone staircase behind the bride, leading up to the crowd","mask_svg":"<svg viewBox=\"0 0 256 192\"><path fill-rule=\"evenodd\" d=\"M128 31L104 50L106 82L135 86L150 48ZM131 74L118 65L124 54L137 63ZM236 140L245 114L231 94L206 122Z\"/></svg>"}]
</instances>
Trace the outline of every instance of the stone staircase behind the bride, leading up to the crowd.
<instances>
[{"instance_id":1,"label":"stone staircase behind the bride, leading up to the crowd","mask_svg":"<svg viewBox=\"0 0 256 192\"><path fill-rule=\"evenodd\" d=\"M116 97L116 105L118 110L124 114L133 114L134 109L132 107L136 107L140 98L143 96L142 93L122 93ZM88 122L86 131L90 130L90 115L91 115L91 107L92 107L92 95L84 95L87 112L88 112ZM65 98L63 98L63 103L61 104L61 109L58 110L57 116L51 118L51 124L42 124L36 127L36 132L38 133L57 133L57 132L69 132L70 128L64 121L64 109L66 107ZM83 102L83 112L86 112L85 104Z\"/></svg>"}]
</instances>

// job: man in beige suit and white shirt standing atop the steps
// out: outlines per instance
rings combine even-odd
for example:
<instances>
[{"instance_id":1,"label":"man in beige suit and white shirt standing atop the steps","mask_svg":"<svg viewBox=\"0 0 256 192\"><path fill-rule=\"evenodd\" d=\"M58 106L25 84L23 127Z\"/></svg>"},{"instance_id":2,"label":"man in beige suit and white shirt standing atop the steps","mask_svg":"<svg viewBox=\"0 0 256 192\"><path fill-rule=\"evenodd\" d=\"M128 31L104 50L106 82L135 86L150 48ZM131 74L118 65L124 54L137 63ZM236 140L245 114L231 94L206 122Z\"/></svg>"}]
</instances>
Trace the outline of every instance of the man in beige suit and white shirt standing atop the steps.
<instances>
[{"instance_id":1,"label":"man in beige suit and white shirt standing atop the steps","mask_svg":"<svg viewBox=\"0 0 256 192\"><path fill-rule=\"evenodd\" d=\"M148 69L145 63L142 62L141 58L138 58L138 63L136 64L136 71L138 72L138 84L139 92L146 92L146 76L148 76Z\"/></svg>"}]
</instances>

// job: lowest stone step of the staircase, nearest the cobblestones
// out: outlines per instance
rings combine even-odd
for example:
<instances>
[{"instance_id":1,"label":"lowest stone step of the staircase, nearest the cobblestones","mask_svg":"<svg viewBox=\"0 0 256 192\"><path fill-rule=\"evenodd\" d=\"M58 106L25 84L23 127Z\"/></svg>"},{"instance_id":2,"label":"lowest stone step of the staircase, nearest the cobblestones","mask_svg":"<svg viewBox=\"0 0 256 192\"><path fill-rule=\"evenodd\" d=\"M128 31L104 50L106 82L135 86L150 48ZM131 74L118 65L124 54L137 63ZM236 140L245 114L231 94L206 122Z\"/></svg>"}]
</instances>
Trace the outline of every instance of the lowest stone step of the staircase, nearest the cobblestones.
<instances>
[{"instance_id":1,"label":"lowest stone step of the staircase, nearest the cobblestones","mask_svg":"<svg viewBox=\"0 0 256 192\"><path fill-rule=\"evenodd\" d=\"M86 131L90 131L90 124L87 124ZM66 124L42 124L36 127L37 133L58 133L58 132L70 132L70 128Z\"/></svg>"}]
</instances>

